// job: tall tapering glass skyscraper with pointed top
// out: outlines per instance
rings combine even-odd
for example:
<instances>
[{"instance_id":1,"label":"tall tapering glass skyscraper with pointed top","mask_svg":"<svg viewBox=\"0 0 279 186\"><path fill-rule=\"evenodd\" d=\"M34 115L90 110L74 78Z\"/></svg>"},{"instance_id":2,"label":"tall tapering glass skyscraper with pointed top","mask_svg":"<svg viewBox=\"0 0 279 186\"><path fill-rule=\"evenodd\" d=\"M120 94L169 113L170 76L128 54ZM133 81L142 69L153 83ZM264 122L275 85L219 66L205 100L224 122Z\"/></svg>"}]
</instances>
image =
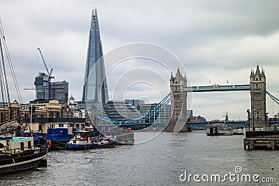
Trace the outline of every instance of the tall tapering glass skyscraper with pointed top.
<instances>
[{"instance_id":1,"label":"tall tapering glass skyscraper with pointed top","mask_svg":"<svg viewBox=\"0 0 279 186\"><path fill-rule=\"evenodd\" d=\"M82 102L105 104L109 99L107 79L105 78L105 64L103 58L101 58L102 56L103 48L100 41L97 9L93 8L84 73ZM98 63L96 63L97 61Z\"/></svg>"}]
</instances>

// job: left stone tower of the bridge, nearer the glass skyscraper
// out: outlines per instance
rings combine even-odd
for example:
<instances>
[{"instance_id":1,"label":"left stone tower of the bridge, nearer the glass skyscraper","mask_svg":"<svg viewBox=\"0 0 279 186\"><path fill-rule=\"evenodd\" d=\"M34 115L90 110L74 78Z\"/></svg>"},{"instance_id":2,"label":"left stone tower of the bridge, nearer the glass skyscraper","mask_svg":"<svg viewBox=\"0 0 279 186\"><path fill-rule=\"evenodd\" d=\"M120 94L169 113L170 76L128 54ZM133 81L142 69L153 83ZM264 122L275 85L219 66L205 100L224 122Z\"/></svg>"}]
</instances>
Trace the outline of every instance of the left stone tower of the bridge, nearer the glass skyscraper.
<instances>
[{"instance_id":1,"label":"left stone tower of the bridge, nearer the glass skyscraper","mask_svg":"<svg viewBox=\"0 0 279 186\"><path fill-rule=\"evenodd\" d=\"M176 127L177 124L181 129L180 132L188 132L187 93L183 92L183 86L187 86L186 75L183 76L179 68L177 68L175 77L171 75L169 81L172 118L168 123L166 130L167 132L174 132L174 127Z\"/></svg>"}]
</instances>

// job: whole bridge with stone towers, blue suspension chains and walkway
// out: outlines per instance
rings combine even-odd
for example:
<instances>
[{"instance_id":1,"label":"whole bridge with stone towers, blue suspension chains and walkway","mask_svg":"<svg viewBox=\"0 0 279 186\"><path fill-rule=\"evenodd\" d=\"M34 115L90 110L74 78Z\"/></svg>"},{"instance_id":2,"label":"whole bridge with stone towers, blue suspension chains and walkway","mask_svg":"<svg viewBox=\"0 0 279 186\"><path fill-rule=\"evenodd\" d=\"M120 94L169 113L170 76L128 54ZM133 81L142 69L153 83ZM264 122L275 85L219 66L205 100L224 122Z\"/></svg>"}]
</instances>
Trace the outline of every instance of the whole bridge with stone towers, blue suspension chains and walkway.
<instances>
[{"instance_id":1,"label":"whole bridge with stone towers, blue suspension chains and walkway","mask_svg":"<svg viewBox=\"0 0 279 186\"><path fill-rule=\"evenodd\" d=\"M101 124L100 126L119 126L119 127L135 127L142 128L149 125L167 125L166 130L168 132L173 132L174 127L177 123L183 126L180 130L181 132L187 132L188 128L195 127L199 125L212 125L216 121L206 121L204 123L188 122L188 112L187 112L187 95L188 93L198 93L198 92L217 92L217 91L250 91L250 110L251 110L251 120L253 125L249 127L263 128L266 125L266 95L269 95L271 99L279 104L279 100L266 91L266 76L264 74L264 69L262 72L259 70L259 65L257 64L256 70L251 70L250 73L250 84L233 84L233 85L219 85L213 84L211 86L187 86L186 76L181 75L179 68L177 69L176 75L170 77L170 93L160 101L156 107L153 107L150 111L147 111L142 116L131 119L129 121L116 121L113 118L107 116L95 114L96 118L101 121L105 121L107 124ZM169 123L146 123L147 118L152 118L160 113L160 110L165 107L169 102L171 102L172 115ZM110 123L110 124L108 124ZM218 123L223 123L226 125L236 125L244 127L248 125L248 121L218 121ZM278 123L278 122L277 122Z\"/></svg>"}]
</instances>

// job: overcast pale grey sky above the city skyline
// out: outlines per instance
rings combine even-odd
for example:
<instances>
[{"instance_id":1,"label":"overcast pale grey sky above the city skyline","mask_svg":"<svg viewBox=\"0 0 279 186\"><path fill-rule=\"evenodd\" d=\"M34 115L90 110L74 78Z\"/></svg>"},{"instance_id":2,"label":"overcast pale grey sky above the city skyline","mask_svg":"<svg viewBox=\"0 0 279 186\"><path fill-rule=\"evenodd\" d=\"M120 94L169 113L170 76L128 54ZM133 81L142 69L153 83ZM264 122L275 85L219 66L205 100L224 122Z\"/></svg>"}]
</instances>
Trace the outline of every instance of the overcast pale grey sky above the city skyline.
<instances>
[{"instance_id":1,"label":"overcast pale grey sky above the city skyline","mask_svg":"<svg viewBox=\"0 0 279 186\"><path fill-rule=\"evenodd\" d=\"M181 61L182 65L172 63L169 68L176 72L179 65L192 86L227 84L227 81L249 84L250 70L259 61L259 68L266 73L267 90L279 97L279 1L0 0L0 4L0 18L24 102L35 97L34 91L24 91L24 87L34 87L38 72L45 72L38 47L47 65L53 68L54 81L69 82L70 95L81 100L93 7L98 9L104 54L134 42L158 45ZM148 65L146 60L128 64L140 68ZM110 98L114 80L126 68L121 69L107 77ZM170 73L158 69L158 75L165 81L157 85L159 97L163 98L169 91L166 81ZM136 75L129 74L128 68L126 71L128 78L137 77L140 81L142 77L142 81L149 81L146 70ZM149 85L152 84L151 81ZM136 93L131 91L124 98L159 100L154 97L158 91L152 86L134 88L140 91L133 90ZM123 98L123 93L121 96L117 99ZM13 91L11 97L17 99ZM246 91L193 93L191 97L188 108L208 120L223 119L226 112L229 119L246 119L246 109L250 109L250 93ZM269 116L279 111L269 98L266 102Z\"/></svg>"}]
</instances>

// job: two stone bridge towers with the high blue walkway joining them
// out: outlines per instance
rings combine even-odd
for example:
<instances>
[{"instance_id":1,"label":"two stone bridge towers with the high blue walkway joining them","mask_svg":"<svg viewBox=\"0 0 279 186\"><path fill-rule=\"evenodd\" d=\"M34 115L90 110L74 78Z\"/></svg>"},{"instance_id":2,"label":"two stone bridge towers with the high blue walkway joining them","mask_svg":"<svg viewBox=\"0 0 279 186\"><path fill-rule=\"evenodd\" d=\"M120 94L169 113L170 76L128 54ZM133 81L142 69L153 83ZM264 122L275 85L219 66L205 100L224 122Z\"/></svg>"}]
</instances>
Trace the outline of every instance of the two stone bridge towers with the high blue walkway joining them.
<instances>
[{"instance_id":1,"label":"two stone bridge towers with the high blue walkway joining them","mask_svg":"<svg viewBox=\"0 0 279 186\"><path fill-rule=\"evenodd\" d=\"M234 84L234 85L218 85L212 86L187 86L187 79L183 75L179 68L176 75L170 77L170 92L171 92L171 107L172 118L167 125L167 131L174 131L176 123L185 123L181 132L186 132L188 127L191 127L192 123L187 123L187 93L189 92L216 92L216 91L250 91L251 102L251 117L253 122L253 130L255 128L262 128L266 125L266 76L264 69L262 72L259 70L259 64L257 63L256 70L251 69L250 84ZM270 96L270 95L269 95ZM272 98L272 97L271 97ZM272 98L276 100L276 98ZM279 100L277 100L279 102ZM277 103L278 103L277 102ZM250 126L249 126L250 127Z\"/></svg>"}]
</instances>

